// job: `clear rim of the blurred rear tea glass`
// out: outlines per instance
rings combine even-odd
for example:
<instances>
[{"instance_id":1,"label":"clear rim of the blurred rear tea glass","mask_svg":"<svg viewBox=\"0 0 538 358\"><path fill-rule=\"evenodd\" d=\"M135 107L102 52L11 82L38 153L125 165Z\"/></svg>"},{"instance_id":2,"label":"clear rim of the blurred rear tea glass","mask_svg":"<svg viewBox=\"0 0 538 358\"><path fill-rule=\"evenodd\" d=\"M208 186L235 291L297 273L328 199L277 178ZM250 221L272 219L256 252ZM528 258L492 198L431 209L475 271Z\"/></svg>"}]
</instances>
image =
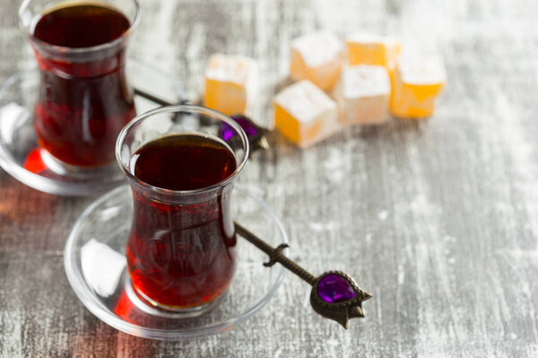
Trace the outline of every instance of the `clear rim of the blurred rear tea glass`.
<instances>
[{"instance_id":1,"label":"clear rim of the blurred rear tea glass","mask_svg":"<svg viewBox=\"0 0 538 358\"><path fill-rule=\"evenodd\" d=\"M53 52L62 53L62 54L86 54L90 52L102 51L111 47L116 47L118 44L124 42L126 38L128 38L129 35L134 31L134 29L138 27L138 24L140 23L140 18L142 16L142 12L141 12L140 4L138 3L138 0L130 0L134 3L134 9L136 12L134 14L134 20L129 23L129 28L125 30L118 38L115 38L112 41L105 42L104 44L90 46L90 47L58 46L58 45L53 45L46 41L43 41L31 34L30 29L33 25L33 19L30 20L28 26L26 26L24 22L22 21L22 13L24 13L24 11L27 9L28 5L32 1L34 0L24 0L21 4L21 7L19 7L19 12L18 12L19 26L24 31L24 33L30 38L30 40L33 41L38 47L44 48L48 51L53 51ZM65 0L64 2L58 3L58 4L63 4L63 3L74 3L74 4L81 3L82 4L83 2L73 2L73 1ZM97 1L96 3L99 3L99 1ZM53 5L51 7L54 7L56 5ZM121 9L118 9L116 6L113 6L113 5L110 5L110 6L114 7L114 9L117 10L119 13L124 14L121 11Z\"/></svg>"}]
</instances>

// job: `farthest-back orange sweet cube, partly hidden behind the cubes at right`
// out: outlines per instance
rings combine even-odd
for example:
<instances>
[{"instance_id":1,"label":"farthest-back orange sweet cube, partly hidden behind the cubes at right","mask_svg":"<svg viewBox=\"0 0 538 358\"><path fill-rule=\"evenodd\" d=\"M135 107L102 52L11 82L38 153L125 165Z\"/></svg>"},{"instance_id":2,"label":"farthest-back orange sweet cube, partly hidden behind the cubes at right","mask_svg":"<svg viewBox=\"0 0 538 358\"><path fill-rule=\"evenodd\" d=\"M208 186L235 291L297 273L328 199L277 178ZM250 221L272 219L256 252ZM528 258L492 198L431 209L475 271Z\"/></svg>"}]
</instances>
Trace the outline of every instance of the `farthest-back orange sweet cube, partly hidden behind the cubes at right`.
<instances>
[{"instance_id":1,"label":"farthest-back orange sweet cube, partly hidden behind the cubes at right","mask_svg":"<svg viewBox=\"0 0 538 358\"><path fill-rule=\"evenodd\" d=\"M402 44L395 38L368 34L351 35L345 40L348 64L377 64L389 71L395 66Z\"/></svg>"}]
</instances>

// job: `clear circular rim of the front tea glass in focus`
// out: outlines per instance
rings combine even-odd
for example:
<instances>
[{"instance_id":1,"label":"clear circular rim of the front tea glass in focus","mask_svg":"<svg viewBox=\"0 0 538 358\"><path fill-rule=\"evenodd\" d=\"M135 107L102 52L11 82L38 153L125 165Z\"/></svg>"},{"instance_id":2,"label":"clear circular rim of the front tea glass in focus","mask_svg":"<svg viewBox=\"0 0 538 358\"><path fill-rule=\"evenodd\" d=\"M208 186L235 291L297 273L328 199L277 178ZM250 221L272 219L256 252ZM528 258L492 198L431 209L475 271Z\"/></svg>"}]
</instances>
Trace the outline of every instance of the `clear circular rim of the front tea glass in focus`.
<instances>
[{"instance_id":1,"label":"clear circular rim of the front tea glass in focus","mask_svg":"<svg viewBox=\"0 0 538 358\"><path fill-rule=\"evenodd\" d=\"M214 183L212 185L204 186L203 188L199 189L192 189L192 190L172 190L172 189L165 189L161 188L159 186L154 186L150 183L146 183L143 180L138 179L128 167L124 164L122 160L122 154L121 154L121 148L126 140L127 133L131 131L131 129L134 127L134 125L139 124L143 122L145 119L151 117L152 115L159 115L161 113L174 113L174 112L195 112L195 113L201 113L204 115L212 115L213 117L216 117L217 119L221 120L221 122L229 124L236 132L239 133L239 138L241 139L241 143L243 144L244 154L241 161L238 163L236 169L228 175L224 180L221 180L218 183ZM163 135L165 135L164 133ZM249 153L249 145L248 145L248 137L247 133L241 128L241 126L234 121L232 118L230 118L228 115L223 115L221 112L218 112L214 109L208 108L208 107L202 107L202 106L195 106L195 105L174 105L174 106L164 106L164 107L158 107L155 109L152 109L150 111L144 112L142 115L137 115L134 117L131 122L126 124L126 126L119 132L117 135L117 141L116 141L116 160L117 164L119 165L122 172L124 172L125 175L127 175L127 178L131 180L132 183L136 183L138 186L149 190L151 192L157 192L164 195L172 195L172 196L183 196L183 195L189 195L189 194L200 194L205 192L211 192L214 189L221 188L228 183L232 183L236 177L239 175L245 164L247 163L248 159L248 153ZM235 154L234 154L235 157ZM130 159L130 158L129 158Z\"/></svg>"}]
</instances>

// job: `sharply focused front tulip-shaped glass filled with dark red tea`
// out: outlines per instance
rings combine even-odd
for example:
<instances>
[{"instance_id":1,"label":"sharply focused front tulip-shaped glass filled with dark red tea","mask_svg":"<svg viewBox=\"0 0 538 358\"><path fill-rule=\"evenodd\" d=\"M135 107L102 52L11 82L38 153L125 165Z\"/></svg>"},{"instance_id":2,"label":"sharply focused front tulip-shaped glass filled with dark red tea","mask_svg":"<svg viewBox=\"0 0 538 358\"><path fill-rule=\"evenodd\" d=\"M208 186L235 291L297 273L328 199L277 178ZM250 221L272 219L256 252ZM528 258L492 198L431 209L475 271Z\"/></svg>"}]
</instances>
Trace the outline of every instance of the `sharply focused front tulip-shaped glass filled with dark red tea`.
<instances>
[{"instance_id":1,"label":"sharply focused front tulip-shaped glass filled with dark red tea","mask_svg":"<svg viewBox=\"0 0 538 358\"><path fill-rule=\"evenodd\" d=\"M230 195L247 135L212 109L161 107L123 129L116 156L133 192L126 258L134 292L182 316L207 311L236 268Z\"/></svg>"}]
</instances>

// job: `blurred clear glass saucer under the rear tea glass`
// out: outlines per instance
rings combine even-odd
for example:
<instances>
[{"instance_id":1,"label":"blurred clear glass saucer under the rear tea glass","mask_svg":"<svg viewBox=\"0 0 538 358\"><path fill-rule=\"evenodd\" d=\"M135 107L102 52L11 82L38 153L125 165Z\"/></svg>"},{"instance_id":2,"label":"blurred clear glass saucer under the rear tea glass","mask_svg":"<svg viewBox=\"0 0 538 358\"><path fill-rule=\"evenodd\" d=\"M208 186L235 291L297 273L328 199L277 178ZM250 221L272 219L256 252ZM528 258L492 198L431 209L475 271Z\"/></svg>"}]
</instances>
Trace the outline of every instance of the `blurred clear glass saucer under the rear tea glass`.
<instances>
[{"instance_id":1,"label":"blurred clear glass saucer under the rear tea glass","mask_svg":"<svg viewBox=\"0 0 538 358\"><path fill-rule=\"evenodd\" d=\"M129 59L126 72L138 90L170 103L186 98L179 82L152 64ZM56 195L98 195L125 183L116 162L98 169L65 170L39 149L32 118L38 85L39 71L32 69L13 74L0 88L0 166L18 181ZM139 114L158 107L140 96L134 102Z\"/></svg>"}]
</instances>

